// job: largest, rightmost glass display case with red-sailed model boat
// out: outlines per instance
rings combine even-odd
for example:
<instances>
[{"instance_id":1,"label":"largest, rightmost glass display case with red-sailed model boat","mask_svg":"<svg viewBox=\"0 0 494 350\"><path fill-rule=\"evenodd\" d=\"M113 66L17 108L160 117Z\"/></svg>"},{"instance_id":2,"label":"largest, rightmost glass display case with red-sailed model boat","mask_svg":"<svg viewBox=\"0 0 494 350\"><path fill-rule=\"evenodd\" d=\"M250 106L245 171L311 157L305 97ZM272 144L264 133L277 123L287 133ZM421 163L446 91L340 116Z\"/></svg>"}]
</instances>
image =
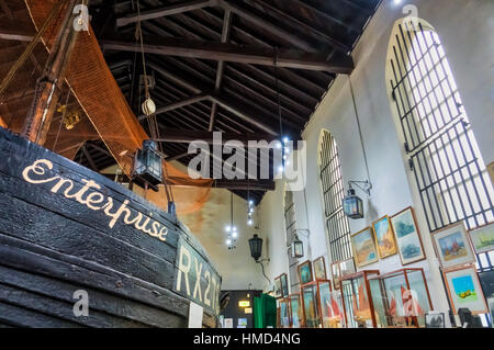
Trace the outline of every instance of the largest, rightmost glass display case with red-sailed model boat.
<instances>
[{"instance_id":1,"label":"largest, rightmost glass display case with red-sailed model boat","mask_svg":"<svg viewBox=\"0 0 494 350\"><path fill-rule=\"evenodd\" d=\"M401 269L369 279L378 327L425 327L433 309L423 269Z\"/></svg>"}]
</instances>

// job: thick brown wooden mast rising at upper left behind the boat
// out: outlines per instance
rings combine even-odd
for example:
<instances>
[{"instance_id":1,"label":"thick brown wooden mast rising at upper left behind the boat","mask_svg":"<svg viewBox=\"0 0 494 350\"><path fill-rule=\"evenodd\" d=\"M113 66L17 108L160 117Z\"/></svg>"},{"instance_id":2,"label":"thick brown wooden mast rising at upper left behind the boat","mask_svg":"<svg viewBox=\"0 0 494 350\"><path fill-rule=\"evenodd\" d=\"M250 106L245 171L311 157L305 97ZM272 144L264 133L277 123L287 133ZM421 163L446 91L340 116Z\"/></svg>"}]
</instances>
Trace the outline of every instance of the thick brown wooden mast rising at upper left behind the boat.
<instances>
[{"instance_id":1,"label":"thick brown wooden mast rising at upper left behind the boat","mask_svg":"<svg viewBox=\"0 0 494 350\"><path fill-rule=\"evenodd\" d=\"M36 81L34 100L27 114L22 136L40 145L44 145L49 125L55 113L60 88L70 54L77 41L78 31L74 29L72 13L77 0L68 1L55 42L52 46L43 75Z\"/></svg>"}]
</instances>

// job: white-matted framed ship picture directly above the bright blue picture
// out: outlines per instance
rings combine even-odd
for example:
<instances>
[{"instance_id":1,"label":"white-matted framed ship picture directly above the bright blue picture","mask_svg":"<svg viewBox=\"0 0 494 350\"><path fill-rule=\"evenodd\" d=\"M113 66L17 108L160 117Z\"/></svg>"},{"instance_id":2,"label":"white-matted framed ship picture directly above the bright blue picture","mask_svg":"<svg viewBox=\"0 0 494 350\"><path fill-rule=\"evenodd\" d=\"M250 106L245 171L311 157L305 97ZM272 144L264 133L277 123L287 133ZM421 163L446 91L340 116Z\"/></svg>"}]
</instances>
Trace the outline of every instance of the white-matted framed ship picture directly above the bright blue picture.
<instances>
[{"instance_id":1,"label":"white-matted framed ship picture directly above the bright blue picture","mask_svg":"<svg viewBox=\"0 0 494 350\"><path fill-rule=\"evenodd\" d=\"M475 262L463 222L436 230L433 241L442 269Z\"/></svg>"}]
</instances>

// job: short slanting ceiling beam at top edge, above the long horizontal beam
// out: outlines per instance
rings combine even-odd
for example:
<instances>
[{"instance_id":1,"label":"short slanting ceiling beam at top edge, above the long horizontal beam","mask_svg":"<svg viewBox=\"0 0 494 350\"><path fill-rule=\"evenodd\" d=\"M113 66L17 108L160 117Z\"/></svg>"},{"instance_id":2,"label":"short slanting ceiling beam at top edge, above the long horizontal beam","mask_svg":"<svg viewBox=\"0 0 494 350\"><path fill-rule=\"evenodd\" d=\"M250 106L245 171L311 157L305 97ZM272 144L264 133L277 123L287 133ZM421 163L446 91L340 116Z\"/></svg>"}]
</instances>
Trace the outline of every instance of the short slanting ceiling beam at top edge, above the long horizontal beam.
<instances>
[{"instance_id":1,"label":"short slanting ceiling beam at top edge, above the long horizontal beam","mask_svg":"<svg viewBox=\"0 0 494 350\"><path fill-rule=\"evenodd\" d=\"M130 16L119 18L116 19L116 26L123 26L131 23L146 20L160 19L167 15L183 13L188 11L200 10L203 8L215 7L217 5L216 0L199 0L199 1L182 1L177 2L168 7L143 11L141 12L141 16L138 14L132 14Z\"/></svg>"}]
</instances>

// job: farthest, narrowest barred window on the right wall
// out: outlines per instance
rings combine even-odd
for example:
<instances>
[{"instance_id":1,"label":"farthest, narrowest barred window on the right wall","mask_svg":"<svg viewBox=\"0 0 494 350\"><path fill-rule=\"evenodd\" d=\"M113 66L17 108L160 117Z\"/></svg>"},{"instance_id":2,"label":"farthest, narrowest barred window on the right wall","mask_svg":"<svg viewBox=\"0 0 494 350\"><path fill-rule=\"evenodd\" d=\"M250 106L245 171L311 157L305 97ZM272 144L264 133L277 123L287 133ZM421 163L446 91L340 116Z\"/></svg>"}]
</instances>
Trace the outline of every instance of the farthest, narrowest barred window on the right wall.
<instances>
[{"instance_id":1,"label":"farthest, narrowest barred window on the right wall","mask_svg":"<svg viewBox=\"0 0 494 350\"><path fill-rule=\"evenodd\" d=\"M293 258L291 248L296 234L295 203L293 201L293 192L288 190L284 191L284 227L287 229L290 293L299 293L300 281L299 272L296 270L299 259Z\"/></svg>"}]
</instances>

